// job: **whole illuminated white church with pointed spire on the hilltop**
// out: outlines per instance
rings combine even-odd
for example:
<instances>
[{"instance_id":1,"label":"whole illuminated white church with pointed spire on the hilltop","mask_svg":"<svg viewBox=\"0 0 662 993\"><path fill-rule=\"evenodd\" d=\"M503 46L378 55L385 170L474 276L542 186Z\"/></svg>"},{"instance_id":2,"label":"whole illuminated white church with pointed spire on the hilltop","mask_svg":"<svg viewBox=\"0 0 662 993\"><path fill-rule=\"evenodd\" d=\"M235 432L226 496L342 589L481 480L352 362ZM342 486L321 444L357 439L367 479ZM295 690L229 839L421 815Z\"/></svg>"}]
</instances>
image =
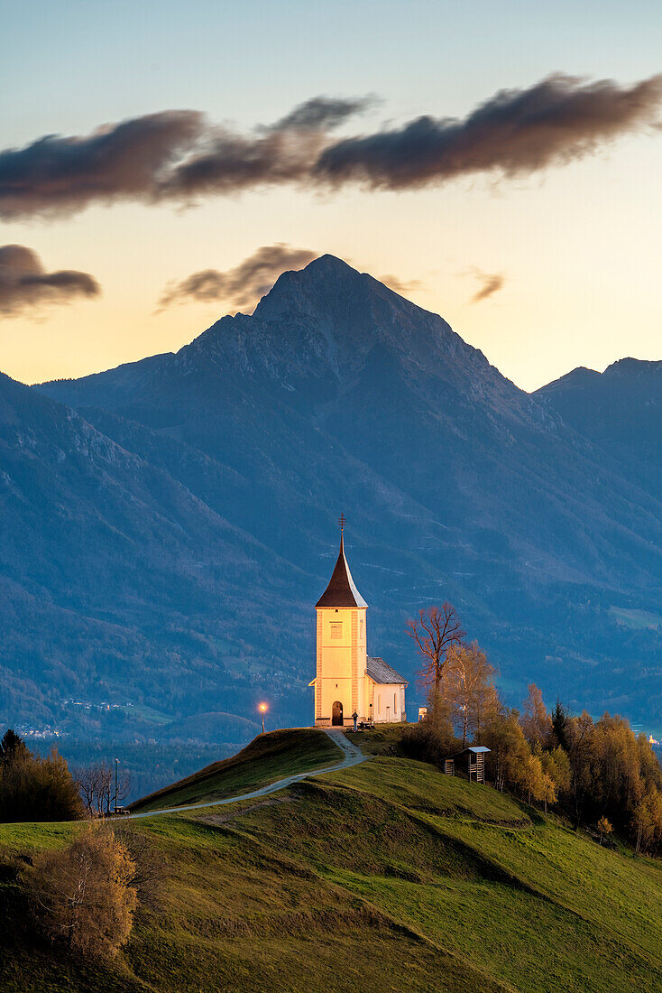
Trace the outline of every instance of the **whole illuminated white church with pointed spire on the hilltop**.
<instances>
[{"instance_id":1,"label":"whole illuminated white church with pointed spire on the hilltop","mask_svg":"<svg viewBox=\"0 0 662 993\"><path fill-rule=\"evenodd\" d=\"M340 517L340 551L329 586L316 604L317 673L315 725L350 727L406 721L407 680L383 658L367 654L368 605L356 589L344 554Z\"/></svg>"}]
</instances>

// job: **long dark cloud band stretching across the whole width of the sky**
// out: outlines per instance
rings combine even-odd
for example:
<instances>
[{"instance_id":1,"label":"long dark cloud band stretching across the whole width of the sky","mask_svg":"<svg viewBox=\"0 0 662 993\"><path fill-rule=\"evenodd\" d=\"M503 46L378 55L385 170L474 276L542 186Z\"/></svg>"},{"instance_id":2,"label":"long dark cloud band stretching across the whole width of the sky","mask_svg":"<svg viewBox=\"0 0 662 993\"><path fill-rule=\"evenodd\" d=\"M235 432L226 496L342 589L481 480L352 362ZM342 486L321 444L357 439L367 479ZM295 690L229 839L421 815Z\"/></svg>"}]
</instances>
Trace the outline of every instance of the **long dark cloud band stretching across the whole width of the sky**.
<instances>
[{"instance_id":1,"label":"long dark cloud band stretching across the whole width of the sky","mask_svg":"<svg viewBox=\"0 0 662 993\"><path fill-rule=\"evenodd\" d=\"M419 117L399 128L334 139L374 97L318 96L275 124L242 134L193 110L49 135L0 152L0 216L73 213L90 203L192 202L282 184L362 183L405 190L478 172L534 172L656 125L662 75L630 87L554 75L501 90L463 120Z\"/></svg>"}]
</instances>

